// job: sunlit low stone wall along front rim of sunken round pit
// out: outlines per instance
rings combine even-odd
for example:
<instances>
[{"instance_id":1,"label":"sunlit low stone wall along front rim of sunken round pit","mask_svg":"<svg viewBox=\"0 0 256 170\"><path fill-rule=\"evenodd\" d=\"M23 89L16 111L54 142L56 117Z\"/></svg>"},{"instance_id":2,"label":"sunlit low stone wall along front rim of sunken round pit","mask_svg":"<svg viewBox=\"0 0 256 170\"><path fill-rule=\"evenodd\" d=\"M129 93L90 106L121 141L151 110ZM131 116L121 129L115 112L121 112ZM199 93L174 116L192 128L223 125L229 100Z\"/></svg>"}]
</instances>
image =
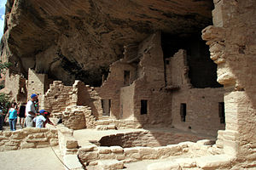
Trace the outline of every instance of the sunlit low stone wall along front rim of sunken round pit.
<instances>
[{"instance_id":1,"label":"sunlit low stone wall along front rim of sunken round pit","mask_svg":"<svg viewBox=\"0 0 256 170\"><path fill-rule=\"evenodd\" d=\"M201 142L183 142L180 144L172 144L160 147L132 147L122 148L120 146L90 146L79 149L79 160L84 165L97 165L101 160L118 160L124 162L143 161L164 159L170 156L201 156L212 155L212 146L209 140L202 140ZM196 150L198 153L196 153ZM217 149L216 149L217 150ZM216 152L215 152L216 154Z\"/></svg>"}]
</instances>

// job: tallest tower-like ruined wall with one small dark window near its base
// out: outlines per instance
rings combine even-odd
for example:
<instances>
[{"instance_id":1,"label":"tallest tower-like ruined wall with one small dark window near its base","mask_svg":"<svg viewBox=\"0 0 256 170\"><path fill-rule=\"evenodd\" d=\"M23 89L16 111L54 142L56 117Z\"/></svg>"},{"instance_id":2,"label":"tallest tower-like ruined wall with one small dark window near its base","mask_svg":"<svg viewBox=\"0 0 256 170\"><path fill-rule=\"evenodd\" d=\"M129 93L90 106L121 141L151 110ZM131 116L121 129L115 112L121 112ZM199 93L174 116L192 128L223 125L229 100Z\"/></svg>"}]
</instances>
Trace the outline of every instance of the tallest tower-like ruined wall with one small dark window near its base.
<instances>
[{"instance_id":1,"label":"tallest tower-like ruined wall with one small dark window near its base","mask_svg":"<svg viewBox=\"0 0 256 170\"><path fill-rule=\"evenodd\" d=\"M171 126L172 95L165 87L164 59L160 44L160 32L145 39L139 45L138 54L142 55L138 67L142 67L142 77L135 81L134 116L141 124ZM141 115L141 100L147 100L147 114Z\"/></svg>"}]
</instances>

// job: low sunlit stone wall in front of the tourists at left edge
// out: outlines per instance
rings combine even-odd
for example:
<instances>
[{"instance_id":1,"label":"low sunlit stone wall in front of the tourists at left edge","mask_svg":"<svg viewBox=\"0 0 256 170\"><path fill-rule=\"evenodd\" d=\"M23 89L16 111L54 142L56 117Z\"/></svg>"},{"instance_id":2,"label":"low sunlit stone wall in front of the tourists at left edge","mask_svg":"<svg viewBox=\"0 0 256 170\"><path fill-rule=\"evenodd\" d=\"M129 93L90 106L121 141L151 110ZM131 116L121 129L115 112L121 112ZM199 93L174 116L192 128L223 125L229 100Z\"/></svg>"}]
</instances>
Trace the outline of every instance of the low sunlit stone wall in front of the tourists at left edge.
<instances>
[{"instance_id":1,"label":"low sunlit stone wall in front of the tourists at left edge","mask_svg":"<svg viewBox=\"0 0 256 170\"><path fill-rule=\"evenodd\" d=\"M0 132L0 151L42 148L58 145L56 129L26 127L15 132Z\"/></svg>"}]
</instances>

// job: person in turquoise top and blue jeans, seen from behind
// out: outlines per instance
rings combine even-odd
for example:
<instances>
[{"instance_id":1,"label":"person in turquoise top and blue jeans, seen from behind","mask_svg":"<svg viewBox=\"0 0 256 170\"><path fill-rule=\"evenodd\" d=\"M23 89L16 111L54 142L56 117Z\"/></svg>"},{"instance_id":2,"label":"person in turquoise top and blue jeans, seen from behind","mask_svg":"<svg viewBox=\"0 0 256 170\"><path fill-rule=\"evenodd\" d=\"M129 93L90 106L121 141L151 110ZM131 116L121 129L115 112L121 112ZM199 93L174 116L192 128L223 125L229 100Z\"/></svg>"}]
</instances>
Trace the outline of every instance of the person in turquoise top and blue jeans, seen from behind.
<instances>
[{"instance_id":1,"label":"person in turquoise top and blue jeans, seen from behind","mask_svg":"<svg viewBox=\"0 0 256 170\"><path fill-rule=\"evenodd\" d=\"M9 128L11 131L16 130L16 123L17 123L17 111L18 106L16 103L12 104L12 107L9 109L7 115L5 116L4 121L7 121L7 117L9 116Z\"/></svg>"}]
</instances>

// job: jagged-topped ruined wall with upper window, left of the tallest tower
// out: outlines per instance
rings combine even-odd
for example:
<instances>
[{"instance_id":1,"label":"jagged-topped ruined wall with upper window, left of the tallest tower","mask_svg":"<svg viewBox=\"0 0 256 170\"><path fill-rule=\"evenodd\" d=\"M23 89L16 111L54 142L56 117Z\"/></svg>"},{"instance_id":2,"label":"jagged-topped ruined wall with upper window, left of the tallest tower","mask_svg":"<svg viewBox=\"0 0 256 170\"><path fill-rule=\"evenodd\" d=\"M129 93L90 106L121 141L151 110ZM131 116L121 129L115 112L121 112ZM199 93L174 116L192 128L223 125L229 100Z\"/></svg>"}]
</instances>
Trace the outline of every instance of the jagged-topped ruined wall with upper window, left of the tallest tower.
<instances>
[{"instance_id":1,"label":"jagged-topped ruined wall with upper window, left of the tallest tower","mask_svg":"<svg viewBox=\"0 0 256 170\"><path fill-rule=\"evenodd\" d=\"M130 83L136 77L136 68L126 64L122 60L110 65L108 79L103 82L101 88L97 88L98 94L102 99L111 99L111 113L113 118L120 118L120 88L125 87L125 71L130 71Z\"/></svg>"}]
</instances>

